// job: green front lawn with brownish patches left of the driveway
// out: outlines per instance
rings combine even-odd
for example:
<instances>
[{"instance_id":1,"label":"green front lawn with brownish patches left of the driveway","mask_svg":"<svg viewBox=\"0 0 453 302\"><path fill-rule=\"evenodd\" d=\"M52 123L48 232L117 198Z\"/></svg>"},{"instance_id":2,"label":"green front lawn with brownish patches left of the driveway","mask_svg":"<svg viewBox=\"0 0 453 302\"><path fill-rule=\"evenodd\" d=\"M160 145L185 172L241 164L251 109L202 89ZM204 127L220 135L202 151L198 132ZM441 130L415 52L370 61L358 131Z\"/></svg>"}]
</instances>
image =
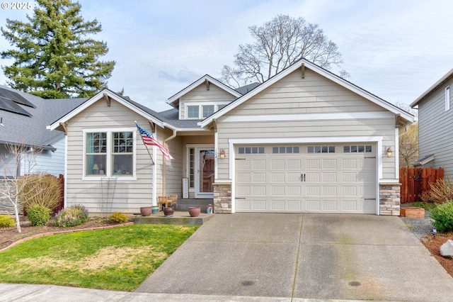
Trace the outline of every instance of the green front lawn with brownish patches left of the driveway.
<instances>
[{"instance_id":1,"label":"green front lawn with brownish patches left of the driveway","mask_svg":"<svg viewBox=\"0 0 453 302\"><path fill-rule=\"evenodd\" d=\"M0 282L133 291L197 225L130 225L28 240L0 252Z\"/></svg>"}]
</instances>

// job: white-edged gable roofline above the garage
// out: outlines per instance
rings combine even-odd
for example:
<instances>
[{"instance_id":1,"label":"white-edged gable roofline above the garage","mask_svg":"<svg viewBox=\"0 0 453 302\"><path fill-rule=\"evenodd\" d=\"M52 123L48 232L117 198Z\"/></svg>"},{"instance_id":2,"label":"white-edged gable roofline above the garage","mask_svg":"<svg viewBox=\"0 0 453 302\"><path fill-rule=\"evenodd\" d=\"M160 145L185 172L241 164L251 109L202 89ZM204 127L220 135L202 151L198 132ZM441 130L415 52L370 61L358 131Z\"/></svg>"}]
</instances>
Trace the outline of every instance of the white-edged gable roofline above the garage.
<instances>
[{"instance_id":1,"label":"white-edged gable roofline above the garage","mask_svg":"<svg viewBox=\"0 0 453 302\"><path fill-rule=\"evenodd\" d=\"M253 96L256 96L261 91L268 88L270 85L275 84L275 82L278 82L283 77L286 77L288 74L294 72L294 70L296 70L296 69L300 69L301 67L309 68L309 69L313 70L314 72L321 74L321 76L326 77L327 79L330 79L332 82L335 82L336 84L339 84L340 86L343 86L346 89L349 89L350 91L355 92L356 94L364 97L365 99L372 101L374 104L377 104L377 105L385 108L386 110L391 111L396 116L401 116L401 118L403 118L407 122L413 122L413 115L411 115L411 113L408 113L408 112L404 111L403 109L398 108L394 104L384 101L383 99L379 98L378 96L375 96L374 94L369 93L365 89L362 89L359 86L356 86L355 84L352 84L351 82L349 82L341 77L338 77L338 75L333 74L332 72L329 72L328 70L323 69L322 67L319 67L318 65L315 65L312 62L309 62L305 59L300 59L297 62L294 62L293 65L287 67L286 69L283 69L278 74L275 74L275 76L271 77L267 81L260 84L260 86L257 86L255 89L249 91L247 94L244 94L243 96L239 97L239 99L236 99L236 101L231 102L229 105L225 106L221 110L212 114L212 116L205 118L205 120L203 120L200 123L200 125L202 127L206 127L207 125L212 123L212 121L223 116L224 114L233 110L237 106L243 104L248 99L251 99Z\"/></svg>"}]
</instances>

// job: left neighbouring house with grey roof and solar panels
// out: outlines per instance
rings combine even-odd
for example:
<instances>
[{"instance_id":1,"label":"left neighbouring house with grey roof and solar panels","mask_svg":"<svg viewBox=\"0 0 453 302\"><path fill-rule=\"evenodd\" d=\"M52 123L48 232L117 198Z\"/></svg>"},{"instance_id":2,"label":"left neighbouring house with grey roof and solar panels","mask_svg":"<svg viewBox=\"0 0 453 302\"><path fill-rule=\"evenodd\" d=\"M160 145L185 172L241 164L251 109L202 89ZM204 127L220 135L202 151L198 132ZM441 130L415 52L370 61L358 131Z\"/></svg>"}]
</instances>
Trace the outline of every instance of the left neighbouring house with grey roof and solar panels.
<instances>
[{"instance_id":1,"label":"left neighbouring house with grey roof and solar panels","mask_svg":"<svg viewBox=\"0 0 453 302\"><path fill-rule=\"evenodd\" d=\"M46 126L86 99L41 99L38 96L0 85L0 163L1 178L42 172L56 177L64 173L64 135ZM39 147L42 152L25 156L16 164L7 145L23 145L29 154ZM9 213L9 201L0 196L0 213Z\"/></svg>"}]
</instances>

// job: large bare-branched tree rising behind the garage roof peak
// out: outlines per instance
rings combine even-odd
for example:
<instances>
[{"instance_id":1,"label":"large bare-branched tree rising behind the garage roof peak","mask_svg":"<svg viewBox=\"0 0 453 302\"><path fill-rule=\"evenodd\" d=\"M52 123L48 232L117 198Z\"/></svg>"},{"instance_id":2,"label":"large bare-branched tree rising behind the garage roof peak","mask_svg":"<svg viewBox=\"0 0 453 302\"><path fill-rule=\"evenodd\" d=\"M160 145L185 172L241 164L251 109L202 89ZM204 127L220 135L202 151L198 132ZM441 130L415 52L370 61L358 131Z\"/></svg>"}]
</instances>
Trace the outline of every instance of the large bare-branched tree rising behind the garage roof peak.
<instances>
[{"instance_id":1,"label":"large bare-branched tree rising behind the garage roof peak","mask_svg":"<svg viewBox=\"0 0 453 302\"><path fill-rule=\"evenodd\" d=\"M231 86L265 82L302 57L325 69L343 62L337 45L317 24L307 23L302 17L277 15L263 26L250 26L248 30L255 42L239 45L234 67L224 65L222 69L222 81ZM340 76L349 74L343 70Z\"/></svg>"}]
</instances>

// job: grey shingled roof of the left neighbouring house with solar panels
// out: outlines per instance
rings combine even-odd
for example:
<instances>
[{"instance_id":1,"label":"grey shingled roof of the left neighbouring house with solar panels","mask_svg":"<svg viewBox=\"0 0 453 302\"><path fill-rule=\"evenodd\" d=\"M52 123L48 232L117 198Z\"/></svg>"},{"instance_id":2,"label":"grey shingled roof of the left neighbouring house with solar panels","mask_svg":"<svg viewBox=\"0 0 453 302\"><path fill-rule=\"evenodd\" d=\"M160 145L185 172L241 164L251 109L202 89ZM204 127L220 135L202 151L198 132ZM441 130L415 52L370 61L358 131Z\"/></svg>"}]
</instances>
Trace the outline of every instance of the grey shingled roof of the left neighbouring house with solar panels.
<instances>
[{"instance_id":1,"label":"grey shingled roof of the left neighbouring house with solar panels","mask_svg":"<svg viewBox=\"0 0 453 302\"><path fill-rule=\"evenodd\" d=\"M23 144L26 146L40 146L44 150L55 151L52 143L62 138L62 133L52 133L46 126L55 118L73 110L85 99L42 99L39 96L27 94L23 91L1 86L1 91L13 94L21 99L21 108L28 112L9 111L0 108L0 143Z\"/></svg>"}]
</instances>

